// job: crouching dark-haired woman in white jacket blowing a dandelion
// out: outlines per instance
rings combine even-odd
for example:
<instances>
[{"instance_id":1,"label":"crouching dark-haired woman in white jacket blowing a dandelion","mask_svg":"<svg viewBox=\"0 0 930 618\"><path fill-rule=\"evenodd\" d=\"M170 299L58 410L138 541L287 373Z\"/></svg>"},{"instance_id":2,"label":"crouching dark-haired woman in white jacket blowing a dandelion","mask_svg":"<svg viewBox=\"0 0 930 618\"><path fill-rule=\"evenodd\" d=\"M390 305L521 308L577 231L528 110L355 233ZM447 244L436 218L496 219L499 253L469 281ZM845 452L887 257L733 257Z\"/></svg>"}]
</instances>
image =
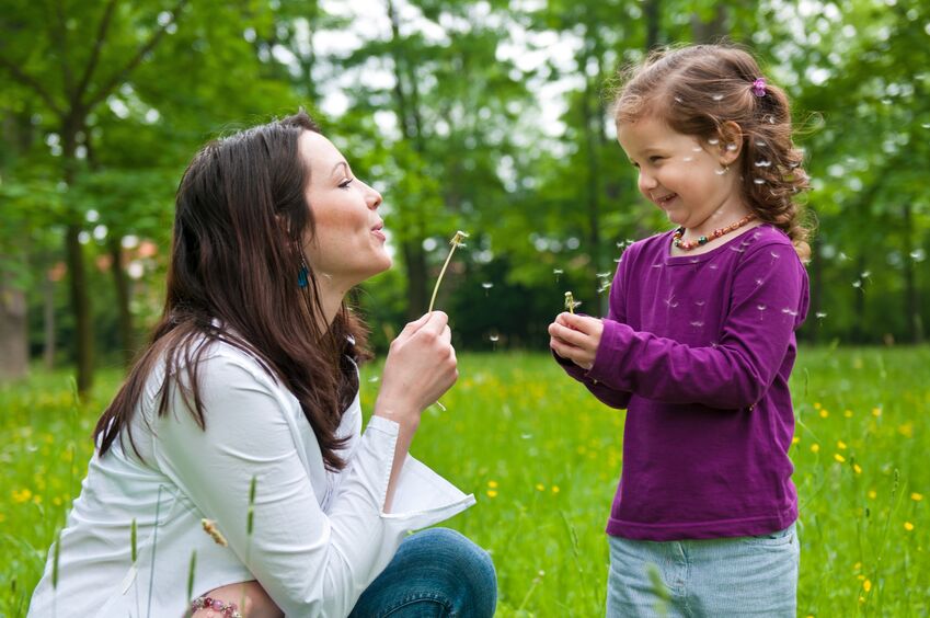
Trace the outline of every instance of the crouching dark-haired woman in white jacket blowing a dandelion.
<instances>
[{"instance_id":1,"label":"crouching dark-haired woman in white jacket blowing a dandelion","mask_svg":"<svg viewBox=\"0 0 930 618\"><path fill-rule=\"evenodd\" d=\"M483 550L404 538L474 503L407 455L457 378L444 313L391 344L360 432L370 355L344 298L391 265L380 204L302 112L197 154L162 319L97 422L30 616L493 614Z\"/></svg>"}]
</instances>

